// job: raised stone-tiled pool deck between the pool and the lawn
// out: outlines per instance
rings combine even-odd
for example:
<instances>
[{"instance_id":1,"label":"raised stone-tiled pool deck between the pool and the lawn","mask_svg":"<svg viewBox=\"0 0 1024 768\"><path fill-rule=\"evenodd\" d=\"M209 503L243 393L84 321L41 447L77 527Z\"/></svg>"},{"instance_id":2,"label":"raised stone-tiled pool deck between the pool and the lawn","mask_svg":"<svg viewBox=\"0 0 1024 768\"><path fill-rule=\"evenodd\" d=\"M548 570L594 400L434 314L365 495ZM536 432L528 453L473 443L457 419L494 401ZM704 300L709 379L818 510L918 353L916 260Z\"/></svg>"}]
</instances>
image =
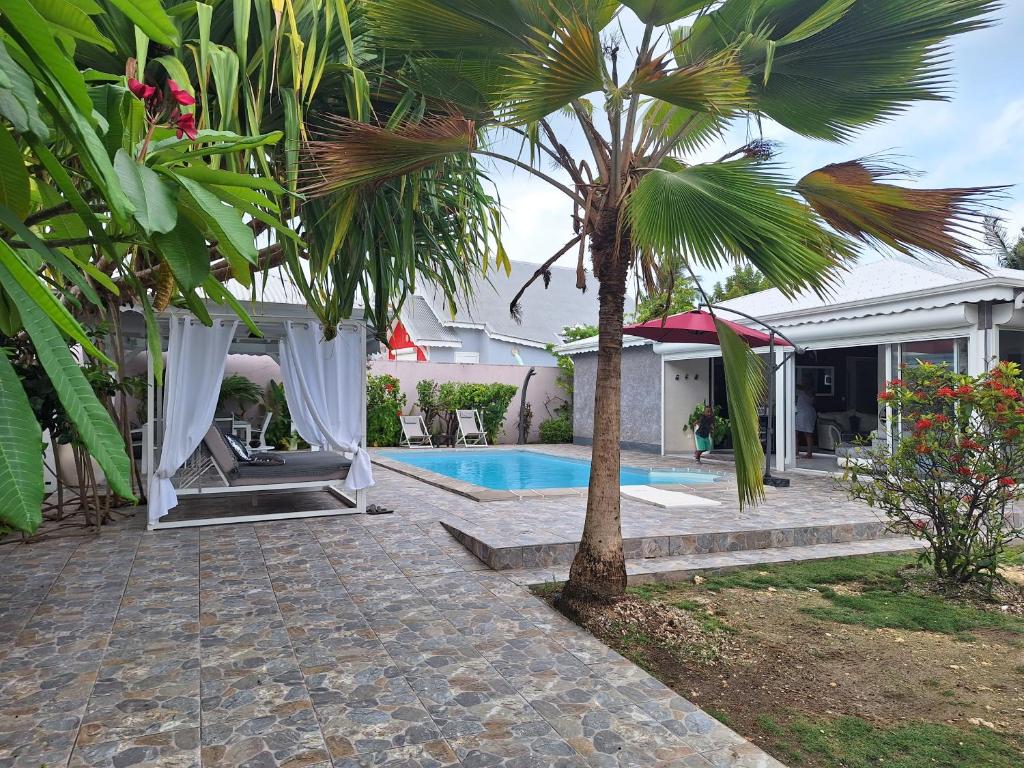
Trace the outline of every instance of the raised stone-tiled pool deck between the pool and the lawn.
<instances>
[{"instance_id":1,"label":"raised stone-tiled pool deck between the pool and the lawn","mask_svg":"<svg viewBox=\"0 0 1024 768\"><path fill-rule=\"evenodd\" d=\"M590 451L581 445L531 445L529 450L572 458L587 458ZM374 461L382 464L379 457ZM386 462L389 468L400 464L393 459ZM697 468L680 457L636 452L624 452L623 463L654 469ZM434 473L408 464L402 471L437 487L459 482L449 477L437 481L429 476ZM765 488L766 501L745 510L739 509L731 475L715 483L655 486L717 501L716 507L664 509L623 498L623 546L631 581L781 562L797 556L809 559L914 547L911 540L891 534L877 512L844 498L830 477L793 474L790 479L790 487ZM586 488L569 490L551 496L517 493L513 499L487 498L486 503L470 501L471 494L456 490L440 497L439 522L489 567L516 581L562 581L575 555L587 509Z\"/></svg>"}]
</instances>

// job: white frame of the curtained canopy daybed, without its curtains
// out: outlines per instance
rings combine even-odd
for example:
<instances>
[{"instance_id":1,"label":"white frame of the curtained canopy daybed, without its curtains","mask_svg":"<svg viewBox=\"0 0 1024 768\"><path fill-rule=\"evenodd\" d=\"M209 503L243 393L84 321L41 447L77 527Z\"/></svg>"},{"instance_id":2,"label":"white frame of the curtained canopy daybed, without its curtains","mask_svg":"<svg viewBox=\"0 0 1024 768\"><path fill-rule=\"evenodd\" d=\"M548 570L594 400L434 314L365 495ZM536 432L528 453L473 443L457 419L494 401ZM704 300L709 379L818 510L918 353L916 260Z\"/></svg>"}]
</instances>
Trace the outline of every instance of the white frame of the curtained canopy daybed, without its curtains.
<instances>
[{"instance_id":1,"label":"white frame of the curtained canopy daybed, without its curtains","mask_svg":"<svg viewBox=\"0 0 1024 768\"><path fill-rule=\"evenodd\" d=\"M227 307L221 306L219 304L214 304L212 302L206 302L207 311L210 313L211 318L214 323L218 322L232 322L238 319L238 315ZM231 341L231 345L228 348L228 354L252 354L252 355L266 355L272 357L274 360L280 361L279 346L278 342L284 338L284 329L287 324L307 324L316 323L315 316L309 311L305 306L297 304L276 304L267 302L254 302L246 305L246 310L249 316L252 318L254 325L260 329L263 334L262 338L255 337L249 328L242 322L239 323L238 329L234 333L234 338ZM358 311L358 310L357 310ZM161 339L161 352L167 351L169 343L169 329L170 329L170 318L188 315L193 316L191 312L185 309L170 308L158 316L158 325L160 328L160 339ZM361 313L359 312L357 316L343 321L339 324L339 329L355 329L360 335L360 348L366 349L367 344L367 327L366 323L362 321ZM143 462L144 468L146 470L145 481L148 482L150 476L159 466L158 457L158 446L156 439L155 426L158 423L158 419L163 419L163 387L158 385L156 381L156 371L153 365L153 355L146 355L146 420L150 428L144 430L143 433L143 456L145 461ZM361 430L359 435L359 443L362 450L366 450L366 439L367 439L367 387L366 387L366 365L365 360L360 361L360 370L362 372L362 386L359 387L359 413L361 414ZM158 393L160 389L160 393ZM202 444L202 443L201 443ZM187 463L186 465L187 466ZM204 485L204 475L206 472L201 472L197 474L194 480L189 481L189 484L183 485L182 487L175 487L175 493L178 497L189 497L189 496L204 496L204 497L214 497L214 496L226 496L232 494L254 494L259 492L276 492L276 490L304 490L304 492L327 492L334 496L339 501L346 504L352 505L351 507L346 507L344 509L336 510L310 510L303 512L280 512L280 513L268 513L268 514L253 514L253 515L231 515L231 516L217 516L217 517L204 517L195 518L189 520L169 520L163 521L158 520L156 522L148 523L146 525L147 530L155 530L158 528L179 528L179 527L191 527L198 525L228 525L233 523L244 523L244 522L260 522L267 520L283 520L283 519L295 519L304 517L328 517L335 515L351 515L351 514L364 514L367 510L367 490L345 490L338 487L337 483L344 482L344 480L334 479L334 480L310 480L305 482L281 482L281 483L265 483L258 485L230 485L227 478L221 472L220 468L216 464L213 467L219 475L220 483L217 485ZM180 472L180 470L179 470Z\"/></svg>"}]
</instances>

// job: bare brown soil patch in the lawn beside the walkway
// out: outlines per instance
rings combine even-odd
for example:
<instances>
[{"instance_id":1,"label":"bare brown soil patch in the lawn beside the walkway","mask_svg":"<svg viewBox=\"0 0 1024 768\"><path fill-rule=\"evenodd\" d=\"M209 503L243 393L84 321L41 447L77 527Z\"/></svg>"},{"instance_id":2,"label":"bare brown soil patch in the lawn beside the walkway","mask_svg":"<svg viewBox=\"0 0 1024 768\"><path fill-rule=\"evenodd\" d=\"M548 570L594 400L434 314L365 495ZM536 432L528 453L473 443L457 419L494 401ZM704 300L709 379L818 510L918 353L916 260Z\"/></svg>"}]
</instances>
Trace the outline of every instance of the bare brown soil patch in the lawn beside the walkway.
<instances>
[{"instance_id":1,"label":"bare brown soil patch in the lawn beside the walkway","mask_svg":"<svg viewBox=\"0 0 1024 768\"><path fill-rule=\"evenodd\" d=\"M668 604L680 599L685 610ZM627 597L584 625L769 751L760 716L786 723L849 715L884 728L932 722L980 725L1015 739L1024 733L1024 636L868 629L802 611L825 605L812 591L677 591L653 601Z\"/></svg>"}]
</instances>

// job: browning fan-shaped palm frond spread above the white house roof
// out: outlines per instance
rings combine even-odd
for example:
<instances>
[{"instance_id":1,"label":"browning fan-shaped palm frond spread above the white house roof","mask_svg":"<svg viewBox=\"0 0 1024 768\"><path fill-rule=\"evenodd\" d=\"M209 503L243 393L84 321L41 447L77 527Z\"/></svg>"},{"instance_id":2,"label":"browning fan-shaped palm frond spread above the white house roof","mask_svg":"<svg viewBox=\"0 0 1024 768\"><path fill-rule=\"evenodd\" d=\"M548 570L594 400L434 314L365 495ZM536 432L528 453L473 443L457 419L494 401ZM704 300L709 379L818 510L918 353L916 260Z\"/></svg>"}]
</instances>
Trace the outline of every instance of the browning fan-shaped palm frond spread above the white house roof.
<instances>
[{"instance_id":1,"label":"browning fan-shaped palm frond spread above the white house roof","mask_svg":"<svg viewBox=\"0 0 1024 768\"><path fill-rule=\"evenodd\" d=\"M941 256L974 269L984 200L996 189L918 189L883 183L904 173L880 159L854 160L811 171L796 189L836 230L899 253Z\"/></svg>"}]
</instances>

